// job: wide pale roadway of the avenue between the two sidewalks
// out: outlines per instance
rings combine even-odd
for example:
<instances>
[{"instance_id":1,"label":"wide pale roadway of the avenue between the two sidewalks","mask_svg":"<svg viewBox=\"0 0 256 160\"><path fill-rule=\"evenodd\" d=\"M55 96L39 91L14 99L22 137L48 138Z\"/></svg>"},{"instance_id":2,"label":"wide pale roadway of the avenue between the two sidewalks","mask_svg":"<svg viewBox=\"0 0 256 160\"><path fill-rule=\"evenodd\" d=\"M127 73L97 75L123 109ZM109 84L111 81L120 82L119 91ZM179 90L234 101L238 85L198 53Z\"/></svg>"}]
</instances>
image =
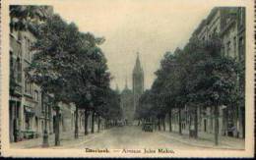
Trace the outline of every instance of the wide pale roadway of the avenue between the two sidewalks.
<instances>
[{"instance_id":1,"label":"wide pale roadway of the avenue between the two sidewalks","mask_svg":"<svg viewBox=\"0 0 256 160\"><path fill-rule=\"evenodd\" d=\"M70 147L70 146L69 146ZM176 140L164 137L159 133L145 133L141 127L128 126L113 128L105 133L99 134L90 141L82 142L73 146L74 148L159 148L168 147L172 149L197 148L187 146Z\"/></svg>"}]
</instances>

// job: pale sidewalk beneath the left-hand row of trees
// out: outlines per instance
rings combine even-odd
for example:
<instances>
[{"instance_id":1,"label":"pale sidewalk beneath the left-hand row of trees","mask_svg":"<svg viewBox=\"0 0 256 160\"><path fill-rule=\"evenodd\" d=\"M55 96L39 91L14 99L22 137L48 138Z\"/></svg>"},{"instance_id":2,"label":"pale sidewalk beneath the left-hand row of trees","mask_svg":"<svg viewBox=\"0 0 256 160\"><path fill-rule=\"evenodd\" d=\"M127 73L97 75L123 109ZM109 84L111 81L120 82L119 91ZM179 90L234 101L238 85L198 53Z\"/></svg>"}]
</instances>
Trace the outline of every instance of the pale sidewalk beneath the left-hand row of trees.
<instances>
[{"instance_id":1,"label":"pale sidewalk beneath the left-hand row of trees","mask_svg":"<svg viewBox=\"0 0 256 160\"><path fill-rule=\"evenodd\" d=\"M62 146L72 146L76 145L78 143L84 142L85 140L95 138L96 135L105 133L106 131L100 131L99 133L88 133L85 135L83 131L80 131L79 138L75 139L74 131L60 133L60 146L54 145L55 140L55 134L49 134L48 141L49 141L49 147L50 148L61 148ZM25 148L41 148L42 146L42 136L38 138L33 139L27 139L19 142L13 142L10 144L11 148L19 148L19 149L25 149Z\"/></svg>"}]
</instances>

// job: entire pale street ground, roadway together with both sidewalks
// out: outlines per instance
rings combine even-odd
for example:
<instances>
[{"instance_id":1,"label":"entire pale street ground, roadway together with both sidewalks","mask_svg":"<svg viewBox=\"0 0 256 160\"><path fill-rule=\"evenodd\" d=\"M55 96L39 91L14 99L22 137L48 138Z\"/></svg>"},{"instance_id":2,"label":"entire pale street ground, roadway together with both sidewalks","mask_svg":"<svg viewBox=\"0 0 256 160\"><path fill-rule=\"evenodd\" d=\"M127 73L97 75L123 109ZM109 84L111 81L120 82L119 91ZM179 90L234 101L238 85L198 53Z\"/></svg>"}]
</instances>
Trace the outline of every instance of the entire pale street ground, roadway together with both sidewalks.
<instances>
[{"instance_id":1,"label":"entire pale street ground, roadway together with both sidewalks","mask_svg":"<svg viewBox=\"0 0 256 160\"><path fill-rule=\"evenodd\" d=\"M84 135L80 131L78 139L74 138L73 133L61 135L61 145L54 146L54 137L49 137L50 148L169 148L169 149L243 149L244 141L230 137L220 137L223 142L215 146L211 139L193 139L186 134L166 132L143 132L138 126L115 127L99 133ZM229 144L230 145L227 145ZM13 148L38 148L41 147L41 138L30 139L18 143L11 143Z\"/></svg>"}]
</instances>

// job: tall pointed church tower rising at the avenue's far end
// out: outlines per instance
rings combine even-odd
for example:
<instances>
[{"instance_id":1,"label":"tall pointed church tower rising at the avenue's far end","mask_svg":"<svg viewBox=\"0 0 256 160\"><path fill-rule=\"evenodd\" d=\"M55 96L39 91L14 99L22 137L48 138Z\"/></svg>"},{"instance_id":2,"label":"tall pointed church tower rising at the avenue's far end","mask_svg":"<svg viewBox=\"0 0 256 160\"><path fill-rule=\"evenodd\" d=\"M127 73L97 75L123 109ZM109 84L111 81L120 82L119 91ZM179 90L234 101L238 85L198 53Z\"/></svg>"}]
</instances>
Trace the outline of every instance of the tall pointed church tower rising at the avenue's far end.
<instances>
[{"instance_id":1,"label":"tall pointed church tower rising at the avenue's far end","mask_svg":"<svg viewBox=\"0 0 256 160\"><path fill-rule=\"evenodd\" d=\"M137 52L137 59L133 69L133 104L134 110L138 107L139 98L144 91L144 72L141 66L139 53Z\"/></svg>"}]
</instances>

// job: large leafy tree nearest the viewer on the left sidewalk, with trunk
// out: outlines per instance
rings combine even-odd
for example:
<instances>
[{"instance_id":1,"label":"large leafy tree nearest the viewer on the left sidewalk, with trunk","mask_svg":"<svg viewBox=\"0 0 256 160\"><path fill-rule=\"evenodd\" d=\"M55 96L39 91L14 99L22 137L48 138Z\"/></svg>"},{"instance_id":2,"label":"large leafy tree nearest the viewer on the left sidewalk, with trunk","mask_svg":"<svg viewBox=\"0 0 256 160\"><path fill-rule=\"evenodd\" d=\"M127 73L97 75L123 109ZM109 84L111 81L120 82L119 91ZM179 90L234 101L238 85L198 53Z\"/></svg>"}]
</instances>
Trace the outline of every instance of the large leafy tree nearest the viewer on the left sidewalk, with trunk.
<instances>
[{"instance_id":1,"label":"large leafy tree nearest the viewer on the left sidewalk, with trunk","mask_svg":"<svg viewBox=\"0 0 256 160\"><path fill-rule=\"evenodd\" d=\"M71 36L72 34L72 36ZM78 36L78 28L68 25L59 16L54 15L39 26L37 40L32 46L34 55L29 67L32 80L41 87L44 94L53 94L53 109L56 110L55 145L59 140L59 101L68 101L70 92L68 84L68 69L72 66L74 57L78 59L76 50L83 44ZM71 101L69 101L71 102Z\"/></svg>"}]
</instances>

